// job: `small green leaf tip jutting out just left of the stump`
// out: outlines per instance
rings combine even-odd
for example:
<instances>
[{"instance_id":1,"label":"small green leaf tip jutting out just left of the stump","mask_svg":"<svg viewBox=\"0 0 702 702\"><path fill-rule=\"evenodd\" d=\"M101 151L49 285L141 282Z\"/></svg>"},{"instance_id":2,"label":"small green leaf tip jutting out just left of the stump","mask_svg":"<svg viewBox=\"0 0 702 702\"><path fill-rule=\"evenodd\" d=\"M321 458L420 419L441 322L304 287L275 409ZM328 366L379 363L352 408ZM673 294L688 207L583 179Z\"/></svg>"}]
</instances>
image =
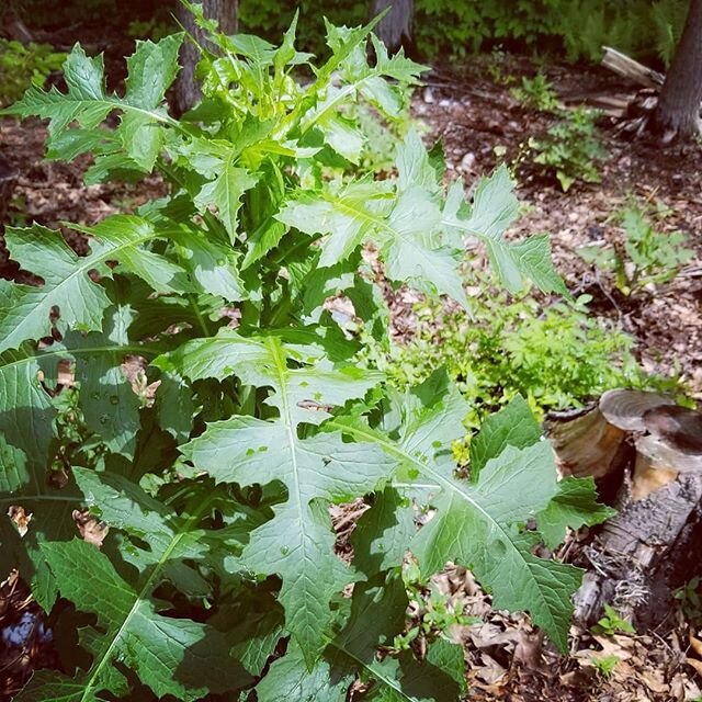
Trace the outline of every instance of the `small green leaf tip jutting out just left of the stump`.
<instances>
[{"instance_id":1,"label":"small green leaf tip jutting out just left of the stump","mask_svg":"<svg viewBox=\"0 0 702 702\"><path fill-rule=\"evenodd\" d=\"M600 524L616 514L616 510L597 501L593 478L569 476L558 484L558 492L548 506L536 514L539 532L548 548L562 544L566 530Z\"/></svg>"}]
</instances>

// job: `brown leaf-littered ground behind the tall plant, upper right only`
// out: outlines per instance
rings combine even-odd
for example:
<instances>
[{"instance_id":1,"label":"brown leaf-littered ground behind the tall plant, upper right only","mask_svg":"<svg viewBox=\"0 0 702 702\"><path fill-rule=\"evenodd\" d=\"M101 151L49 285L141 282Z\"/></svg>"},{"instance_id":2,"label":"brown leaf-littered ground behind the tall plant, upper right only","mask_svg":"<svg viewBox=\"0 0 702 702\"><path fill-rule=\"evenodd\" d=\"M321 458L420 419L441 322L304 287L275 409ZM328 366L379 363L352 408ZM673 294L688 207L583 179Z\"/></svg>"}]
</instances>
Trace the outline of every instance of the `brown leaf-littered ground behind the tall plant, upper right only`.
<instances>
[{"instance_id":1,"label":"brown leaf-littered ground behind the tall plant, upper right only","mask_svg":"<svg viewBox=\"0 0 702 702\"><path fill-rule=\"evenodd\" d=\"M555 121L553 115L524 109L511 94L522 76L536 73L529 59L503 60L497 82L486 70L489 61L485 57L461 72L434 70L428 88L414 101L414 114L428 125L431 137L443 139L449 169L468 189L500 162L516 160L529 137L543 134ZM556 65L540 70L566 103L578 97L636 92L635 86L604 69ZM677 371L693 396L702 399L702 148L660 149L652 143L627 141L614 134L615 124L614 118L602 117L598 125L608 154L599 165L601 183L576 183L564 193L533 163L518 168L524 213L507 236L548 233L568 288L591 294L593 312L619 319L636 339L647 370ZM632 196L668 207L670 215L661 228L686 233L697 258L655 294L622 301L611 281L599 276L576 249L596 240L620 242L622 230L612 215Z\"/></svg>"}]
</instances>

